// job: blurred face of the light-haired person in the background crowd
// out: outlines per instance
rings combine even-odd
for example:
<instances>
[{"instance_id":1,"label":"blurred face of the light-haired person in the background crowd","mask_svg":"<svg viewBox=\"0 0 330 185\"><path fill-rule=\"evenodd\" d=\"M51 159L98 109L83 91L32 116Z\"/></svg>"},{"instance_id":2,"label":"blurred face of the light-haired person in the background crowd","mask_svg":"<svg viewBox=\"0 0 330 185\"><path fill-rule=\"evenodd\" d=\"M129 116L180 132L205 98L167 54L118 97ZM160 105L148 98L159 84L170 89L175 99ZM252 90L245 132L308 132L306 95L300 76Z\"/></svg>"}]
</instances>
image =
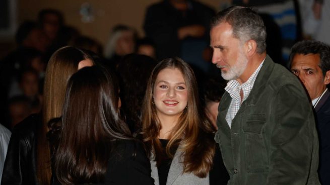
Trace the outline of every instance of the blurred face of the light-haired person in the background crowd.
<instances>
[{"instance_id":1,"label":"blurred face of the light-haired person in the background crowd","mask_svg":"<svg viewBox=\"0 0 330 185\"><path fill-rule=\"evenodd\" d=\"M135 40L133 31L122 31L120 38L117 40L115 52L117 55L123 56L133 53L135 50Z\"/></svg>"}]
</instances>

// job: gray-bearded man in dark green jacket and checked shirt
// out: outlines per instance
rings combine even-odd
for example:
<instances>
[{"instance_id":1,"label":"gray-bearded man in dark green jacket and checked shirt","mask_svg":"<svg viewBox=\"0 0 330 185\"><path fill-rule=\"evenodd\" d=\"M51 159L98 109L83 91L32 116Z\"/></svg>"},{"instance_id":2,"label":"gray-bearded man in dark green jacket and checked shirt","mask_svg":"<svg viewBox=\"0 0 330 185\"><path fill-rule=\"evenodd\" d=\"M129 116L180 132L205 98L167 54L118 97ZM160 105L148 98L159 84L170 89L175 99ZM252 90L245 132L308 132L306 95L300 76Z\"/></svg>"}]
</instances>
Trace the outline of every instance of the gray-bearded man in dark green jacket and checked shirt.
<instances>
[{"instance_id":1,"label":"gray-bearded man in dark green jacket and checked shirt","mask_svg":"<svg viewBox=\"0 0 330 185\"><path fill-rule=\"evenodd\" d=\"M229 80L215 140L228 184L319 184L313 111L299 80L266 54L266 28L252 9L212 20L212 62Z\"/></svg>"}]
</instances>

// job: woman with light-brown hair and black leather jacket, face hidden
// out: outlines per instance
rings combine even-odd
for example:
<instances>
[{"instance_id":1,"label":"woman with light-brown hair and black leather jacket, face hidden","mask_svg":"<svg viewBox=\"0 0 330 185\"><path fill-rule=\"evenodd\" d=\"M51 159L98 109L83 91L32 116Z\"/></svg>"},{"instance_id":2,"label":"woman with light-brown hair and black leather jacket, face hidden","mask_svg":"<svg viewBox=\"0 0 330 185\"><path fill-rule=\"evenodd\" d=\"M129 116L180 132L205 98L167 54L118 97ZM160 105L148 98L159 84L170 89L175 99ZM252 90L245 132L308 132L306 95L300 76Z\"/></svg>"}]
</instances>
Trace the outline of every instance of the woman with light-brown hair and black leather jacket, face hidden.
<instances>
[{"instance_id":1,"label":"woman with light-brown hair and black leather jacket, face hidden","mask_svg":"<svg viewBox=\"0 0 330 185\"><path fill-rule=\"evenodd\" d=\"M30 115L12 132L1 184L50 184L50 149L47 123L62 115L65 89L70 76L94 65L84 51L67 46L50 58L44 82L44 104L40 114Z\"/></svg>"}]
</instances>

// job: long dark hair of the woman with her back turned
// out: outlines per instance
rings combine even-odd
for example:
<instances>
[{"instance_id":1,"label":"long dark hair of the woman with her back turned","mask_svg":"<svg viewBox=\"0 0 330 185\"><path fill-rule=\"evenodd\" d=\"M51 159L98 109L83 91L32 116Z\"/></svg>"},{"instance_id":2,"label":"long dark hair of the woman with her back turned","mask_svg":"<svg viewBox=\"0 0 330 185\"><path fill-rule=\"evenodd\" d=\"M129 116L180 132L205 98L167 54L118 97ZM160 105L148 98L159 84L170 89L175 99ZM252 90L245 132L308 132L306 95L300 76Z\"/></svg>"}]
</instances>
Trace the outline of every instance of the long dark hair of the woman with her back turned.
<instances>
[{"instance_id":1,"label":"long dark hair of the woman with her back turned","mask_svg":"<svg viewBox=\"0 0 330 185\"><path fill-rule=\"evenodd\" d=\"M130 139L120 120L118 85L99 66L72 75L55 153L55 172L61 184L95 183L104 179L111 141Z\"/></svg>"}]
</instances>

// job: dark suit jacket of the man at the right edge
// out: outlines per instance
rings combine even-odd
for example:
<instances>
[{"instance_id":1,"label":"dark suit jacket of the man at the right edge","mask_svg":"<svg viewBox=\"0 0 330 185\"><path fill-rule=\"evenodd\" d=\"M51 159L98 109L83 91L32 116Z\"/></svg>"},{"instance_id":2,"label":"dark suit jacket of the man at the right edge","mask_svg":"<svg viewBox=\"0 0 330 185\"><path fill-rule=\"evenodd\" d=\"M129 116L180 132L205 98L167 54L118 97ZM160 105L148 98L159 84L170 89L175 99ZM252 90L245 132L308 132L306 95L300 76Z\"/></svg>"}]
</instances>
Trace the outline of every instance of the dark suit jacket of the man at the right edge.
<instances>
[{"instance_id":1,"label":"dark suit jacket of the man at the right edge","mask_svg":"<svg viewBox=\"0 0 330 185\"><path fill-rule=\"evenodd\" d=\"M330 91L326 90L315 107L320 142L318 174L322 184L330 184Z\"/></svg>"}]
</instances>

